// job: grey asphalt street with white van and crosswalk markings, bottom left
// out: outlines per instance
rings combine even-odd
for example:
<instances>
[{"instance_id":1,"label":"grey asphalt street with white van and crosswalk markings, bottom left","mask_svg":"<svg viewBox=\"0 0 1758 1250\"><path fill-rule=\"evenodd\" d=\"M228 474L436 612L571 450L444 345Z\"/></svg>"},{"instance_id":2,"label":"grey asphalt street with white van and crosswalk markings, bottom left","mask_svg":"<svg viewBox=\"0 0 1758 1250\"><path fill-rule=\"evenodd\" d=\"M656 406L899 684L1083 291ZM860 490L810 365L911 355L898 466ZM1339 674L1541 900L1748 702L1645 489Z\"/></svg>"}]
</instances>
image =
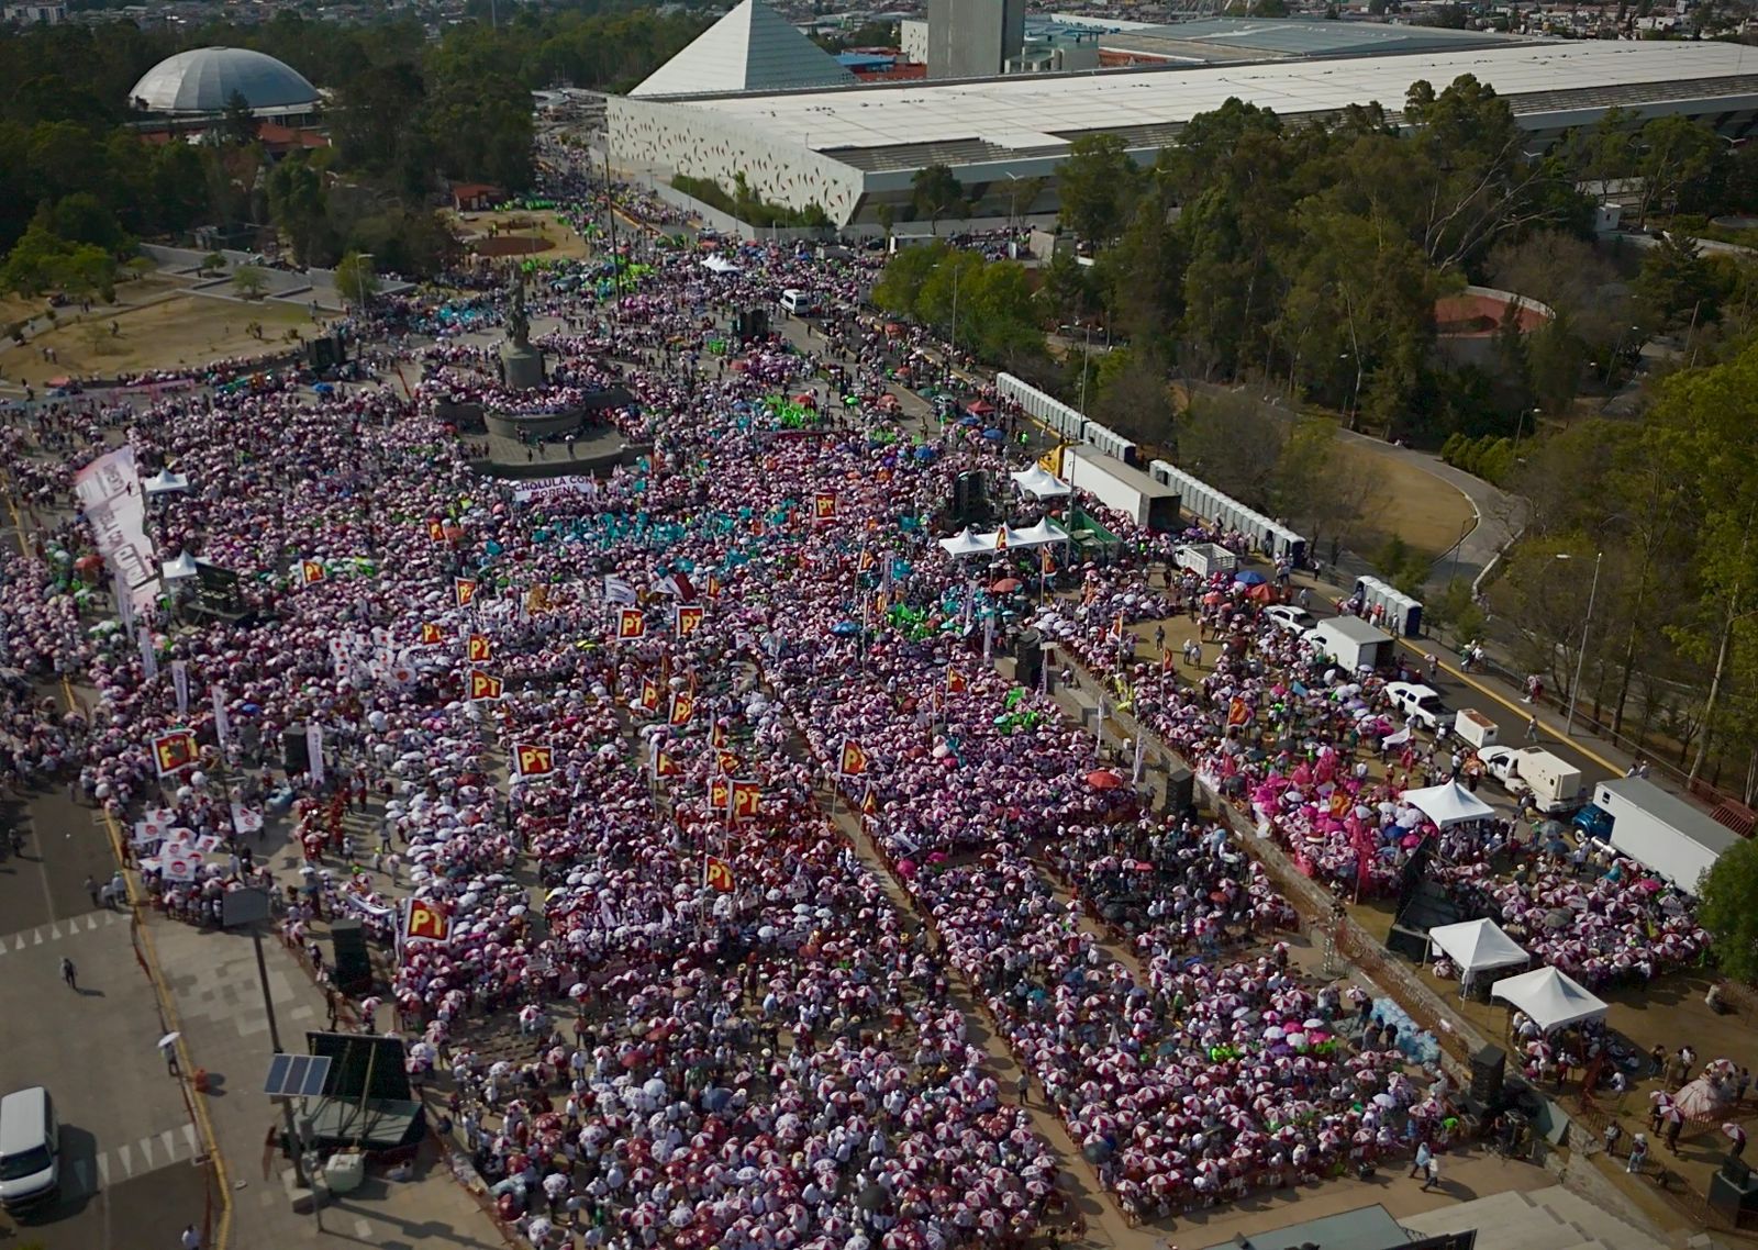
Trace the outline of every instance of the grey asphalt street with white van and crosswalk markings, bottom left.
<instances>
[{"instance_id":1,"label":"grey asphalt street with white van and crosswalk markings, bottom left","mask_svg":"<svg viewBox=\"0 0 1758 1250\"><path fill-rule=\"evenodd\" d=\"M207 1169L156 1041L158 999L128 914L95 907L111 849L65 793L26 809L23 856L0 863L0 1094L44 1085L62 1118L58 1201L0 1217L0 1238L46 1250L174 1246L206 1217ZM77 990L62 983L62 958ZM0 1239L0 1245L5 1241Z\"/></svg>"}]
</instances>

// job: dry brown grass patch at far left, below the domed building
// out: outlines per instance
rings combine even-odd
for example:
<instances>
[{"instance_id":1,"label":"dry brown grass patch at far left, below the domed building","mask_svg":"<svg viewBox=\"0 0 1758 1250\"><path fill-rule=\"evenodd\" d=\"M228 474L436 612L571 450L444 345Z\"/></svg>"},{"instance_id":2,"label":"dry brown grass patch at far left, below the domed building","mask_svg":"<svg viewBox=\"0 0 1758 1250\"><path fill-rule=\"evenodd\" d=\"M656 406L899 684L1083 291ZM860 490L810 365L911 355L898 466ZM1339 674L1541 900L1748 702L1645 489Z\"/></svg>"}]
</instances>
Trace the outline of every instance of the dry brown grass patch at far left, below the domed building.
<instances>
[{"instance_id":1,"label":"dry brown grass patch at far left, below the domed building","mask_svg":"<svg viewBox=\"0 0 1758 1250\"><path fill-rule=\"evenodd\" d=\"M111 332L111 323L116 331ZM250 325L262 327L262 338ZM44 385L51 378L113 376L141 369L172 369L258 355L287 343L288 331L311 338L315 323L288 304L239 304L200 295L169 295L135 308L93 308L90 316L62 323L25 346L0 350L0 376ZM53 348L56 359L44 360Z\"/></svg>"}]
</instances>

